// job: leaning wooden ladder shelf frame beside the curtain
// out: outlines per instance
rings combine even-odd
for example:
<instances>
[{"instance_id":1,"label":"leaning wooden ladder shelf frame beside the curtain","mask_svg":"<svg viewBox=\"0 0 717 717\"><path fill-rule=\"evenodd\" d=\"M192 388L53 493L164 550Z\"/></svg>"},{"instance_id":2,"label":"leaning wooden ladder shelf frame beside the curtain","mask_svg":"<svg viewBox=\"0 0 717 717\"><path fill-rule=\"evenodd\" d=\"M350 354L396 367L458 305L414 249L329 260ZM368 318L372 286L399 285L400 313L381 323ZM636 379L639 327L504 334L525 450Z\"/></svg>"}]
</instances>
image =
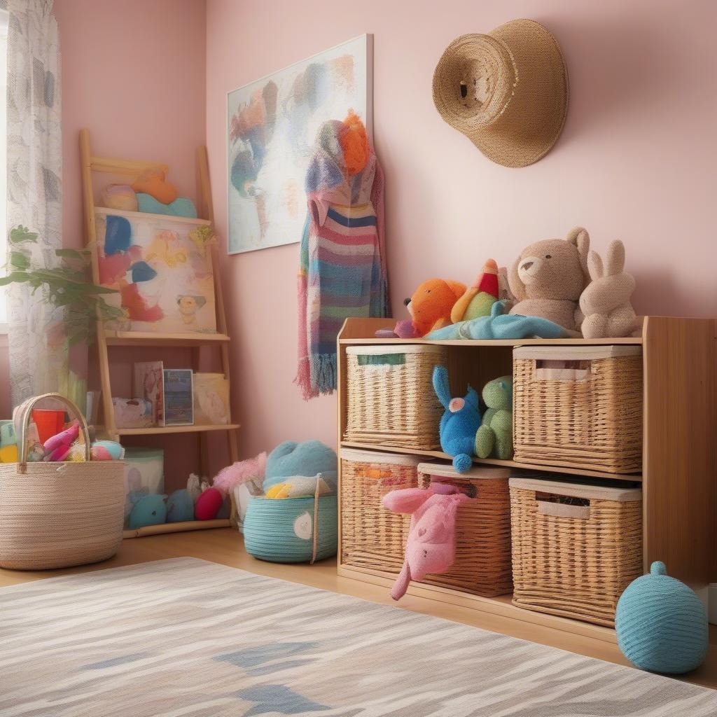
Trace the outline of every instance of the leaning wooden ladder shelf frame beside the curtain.
<instances>
[{"instance_id":1,"label":"leaning wooden ladder shelf frame beside the curtain","mask_svg":"<svg viewBox=\"0 0 717 717\"><path fill-rule=\"evenodd\" d=\"M100 268L98 260L97 228L95 224L95 194L92 188L92 173L103 172L105 174L123 175L130 180L135 179L139 174L149 168L166 168L166 165L158 162L132 161L115 157L98 157L92 154L90 147L90 131L80 130L80 163L82 171L82 199L85 209L85 247L90 250L92 257L92 280L95 284L100 283ZM197 223L214 224L214 207L212 206L212 192L209 186L209 161L206 147L196 148L196 179L199 193ZM143 214L144 217L152 217L152 214ZM171 221L173 217L161 217L165 221ZM176 217L182 222L191 222L187 217ZM196 221L196 220L194 220ZM192 426L152 426L147 428L118 428L115 423L115 414L112 406L112 384L110 381L110 352L112 346L158 346L158 347L191 347L192 368L199 369L199 359L202 346L214 346L219 348L222 360L222 373L229 379L229 333L227 331L227 317L224 312L224 300L222 295L222 277L219 271L219 257L217 247L213 245L212 269L214 272L214 305L217 311L217 333L153 333L139 331L108 331L103 322L97 322L97 347L100 368L100 387L102 389L103 419L105 433L111 440L119 441L121 436L136 435L158 435L172 433L196 433L199 436L201 449L201 470L209 474L209 450L207 446L207 435L209 432L223 431L227 436L227 449L229 460L233 463L239 460L237 450L238 424L232 423L222 425L192 425ZM174 532L183 530L196 530L199 528L216 528L229 526L229 521L189 521L188 523L166 523L161 526L149 526L140 528L138 531L125 531L125 537L136 537L150 535L153 533Z\"/></svg>"}]
</instances>

